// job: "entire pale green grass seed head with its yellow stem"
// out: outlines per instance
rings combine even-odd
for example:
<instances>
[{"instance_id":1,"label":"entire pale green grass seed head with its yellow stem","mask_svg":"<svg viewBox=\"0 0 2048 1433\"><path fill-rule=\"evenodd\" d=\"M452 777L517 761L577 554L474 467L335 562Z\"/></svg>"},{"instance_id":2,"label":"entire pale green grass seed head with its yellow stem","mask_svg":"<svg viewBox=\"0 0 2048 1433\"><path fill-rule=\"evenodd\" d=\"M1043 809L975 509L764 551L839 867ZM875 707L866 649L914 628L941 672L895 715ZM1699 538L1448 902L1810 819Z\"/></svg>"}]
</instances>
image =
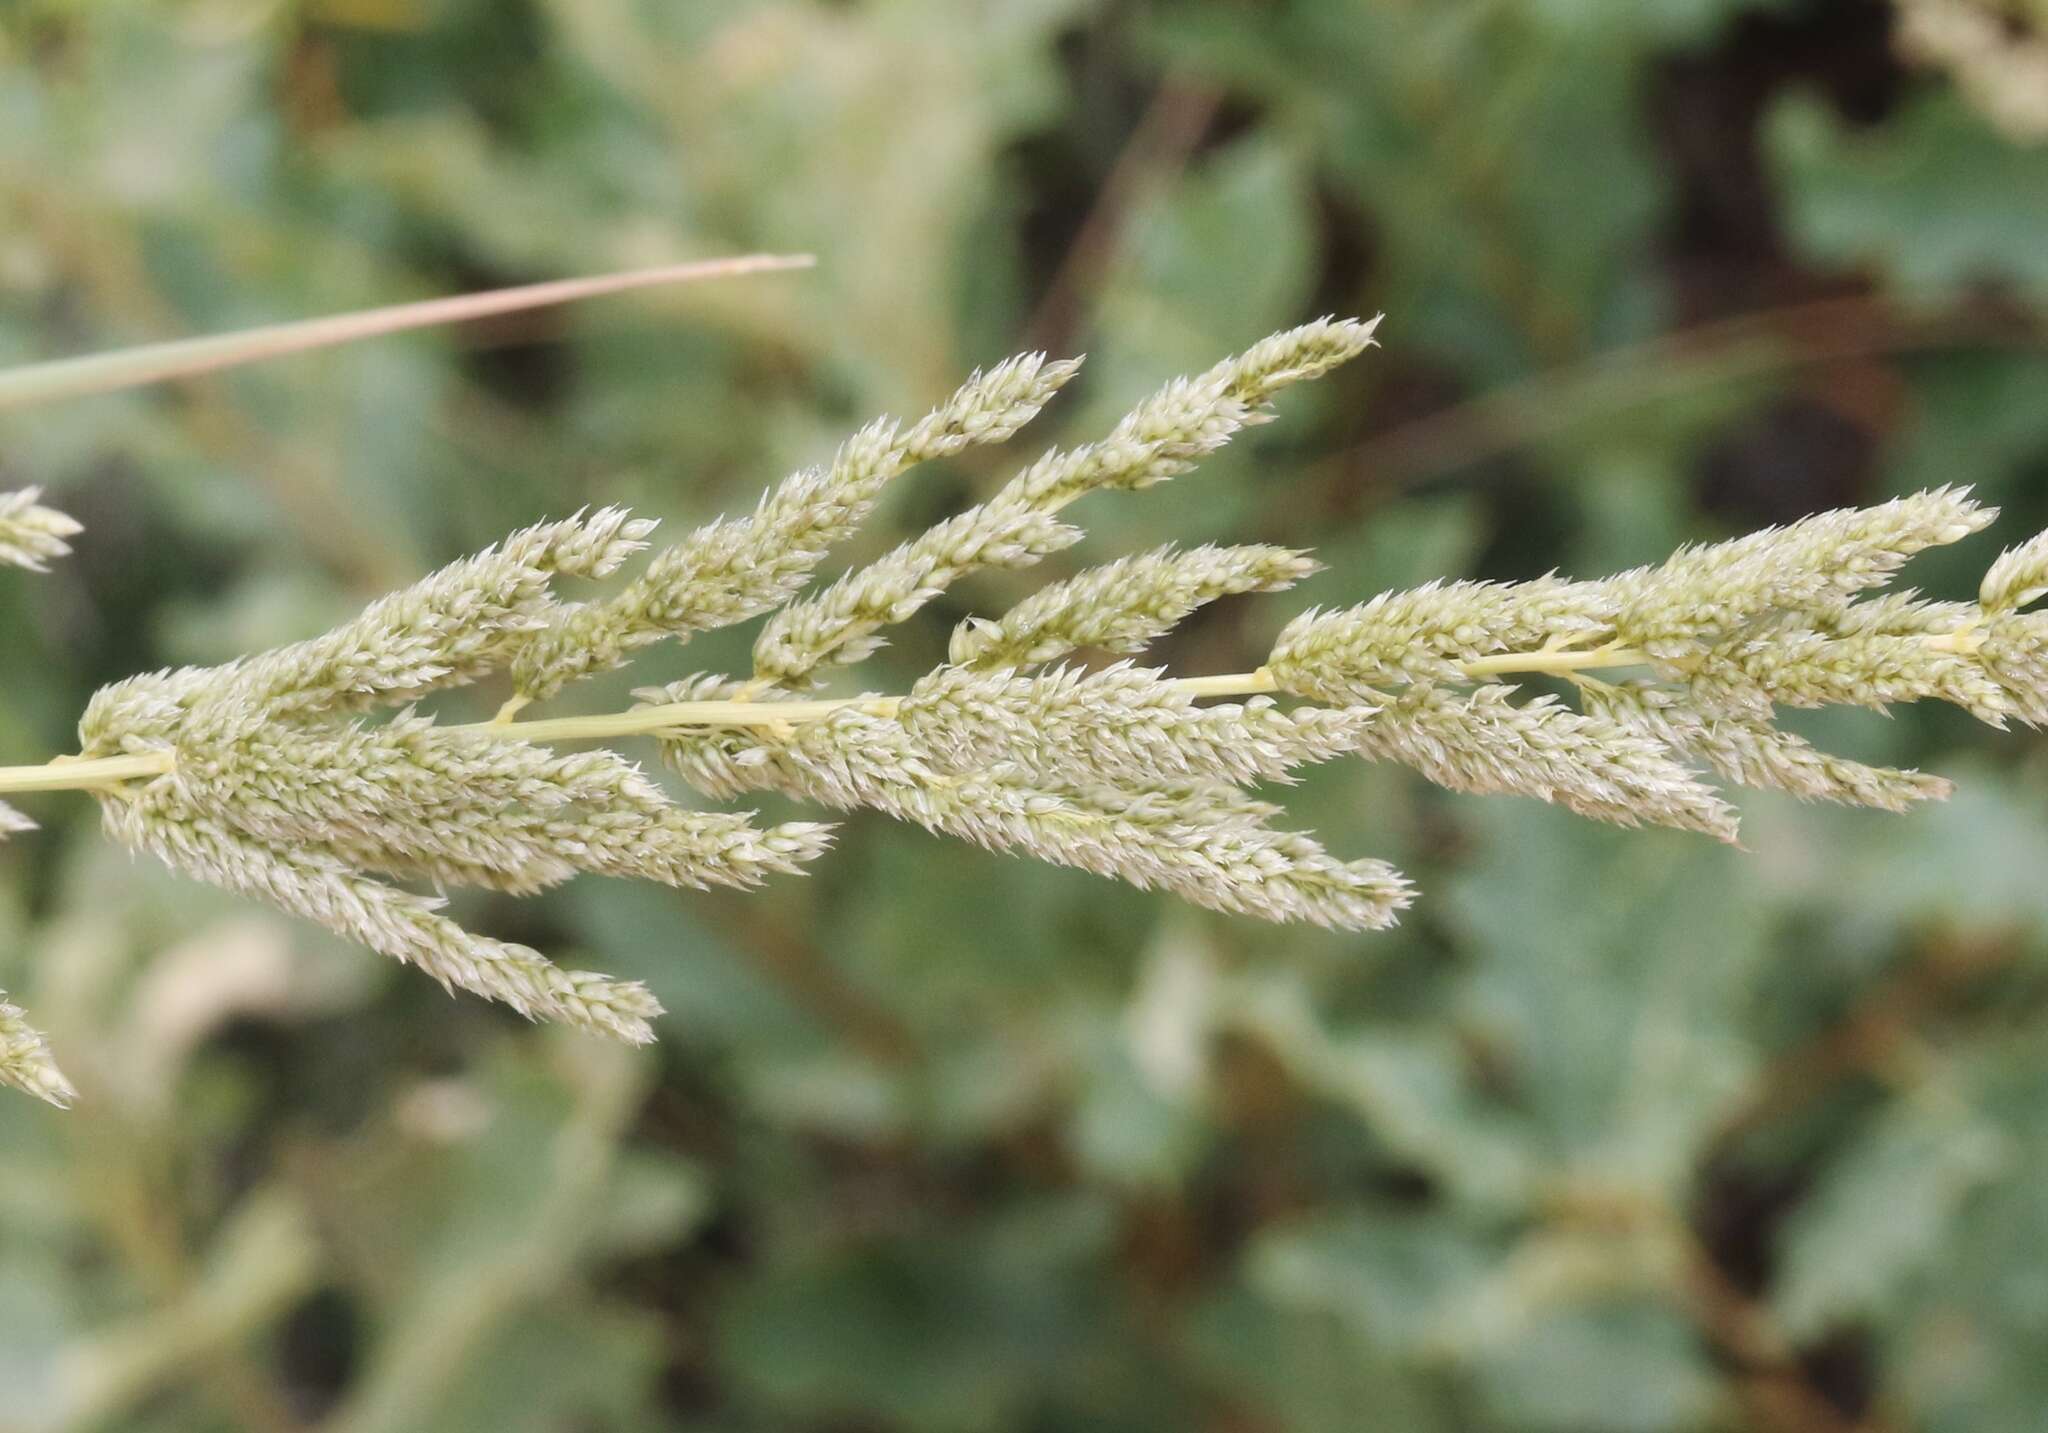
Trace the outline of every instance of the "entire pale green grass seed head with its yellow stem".
<instances>
[{"instance_id":1,"label":"entire pale green grass seed head with its yellow stem","mask_svg":"<svg viewBox=\"0 0 2048 1433\"><path fill-rule=\"evenodd\" d=\"M1204 602L1288 588L1315 563L1272 547L1163 549L969 618L907 692L815 692L969 573L1067 549L1075 500L1180 477L1266 422L1282 389L1372 346L1374 323L1307 323L1169 383L1100 442L1047 452L987 502L807 594L885 483L1010 438L1077 368L1014 358L918 422L864 428L608 596L571 602L555 588L612 575L653 524L606 508L532 526L322 637L109 686L86 708L78 755L0 770L0 790L88 790L115 839L190 876L451 989L641 1042L659 1013L643 987L463 929L401 882L532 893L602 872L752 886L817 858L829 829L682 807L629 757L584 743L651 737L711 798L774 790L874 809L1221 911L1370 929L1409 903L1407 880L1276 827L1280 809L1251 786L1358 753L1456 790L1733 841L1735 811L1708 772L1888 811L1948 792L1815 749L1776 727L1782 706L1933 698L1999 727L2048 721L2048 616L2023 612L2048 592L2048 534L2003 555L1972 604L1874 596L1915 553L1991 522L1960 489L1597 581L1452 581L1311 610L1260 667L1198 678L1133 659ZM23 495L0 553L41 561L74 530ZM621 712L522 719L647 645L758 616L752 671L649 688ZM494 721L442 725L418 706L500 674L512 698ZM1532 676L1577 702L1511 684ZM375 710L395 714L369 721ZM68 1091L12 1005L0 1005L0 1079Z\"/></svg>"}]
</instances>

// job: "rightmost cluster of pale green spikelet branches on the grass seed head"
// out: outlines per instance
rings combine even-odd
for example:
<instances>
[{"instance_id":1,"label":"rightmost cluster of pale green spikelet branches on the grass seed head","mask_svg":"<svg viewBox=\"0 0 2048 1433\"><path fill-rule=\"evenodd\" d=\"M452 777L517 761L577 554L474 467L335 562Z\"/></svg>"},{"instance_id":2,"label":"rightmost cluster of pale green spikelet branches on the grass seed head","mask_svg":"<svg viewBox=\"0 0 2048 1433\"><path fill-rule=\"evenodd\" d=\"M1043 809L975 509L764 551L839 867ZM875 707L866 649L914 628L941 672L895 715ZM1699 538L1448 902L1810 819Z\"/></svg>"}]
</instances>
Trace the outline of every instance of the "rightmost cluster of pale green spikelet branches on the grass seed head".
<instances>
[{"instance_id":1,"label":"rightmost cluster of pale green spikelet branches on the grass seed head","mask_svg":"<svg viewBox=\"0 0 2048 1433\"><path fill-rule=\"evenodd\" d=\"M1456 790L1520 792L1622 825L1735 837L1692 766L1726 780L1901 811L1948 794L1919 772L1833 757L1772 721L1778 706L1944 700L2001 727L2048 716L2036 618L2044 547L2007 553L1982 602L1862 598L1915 553L1995 514L1960 489L1825 512L1602 581L1432 583L1309 612L1266 674L1325 702L1382 702L1362 749ZM1653 680L1610 684L1604 667ZM1583 712L1516 704L1501 682L1575 682ZM1591 725L1587 725L1591 723Z\"/></svg>"}]
</instances>

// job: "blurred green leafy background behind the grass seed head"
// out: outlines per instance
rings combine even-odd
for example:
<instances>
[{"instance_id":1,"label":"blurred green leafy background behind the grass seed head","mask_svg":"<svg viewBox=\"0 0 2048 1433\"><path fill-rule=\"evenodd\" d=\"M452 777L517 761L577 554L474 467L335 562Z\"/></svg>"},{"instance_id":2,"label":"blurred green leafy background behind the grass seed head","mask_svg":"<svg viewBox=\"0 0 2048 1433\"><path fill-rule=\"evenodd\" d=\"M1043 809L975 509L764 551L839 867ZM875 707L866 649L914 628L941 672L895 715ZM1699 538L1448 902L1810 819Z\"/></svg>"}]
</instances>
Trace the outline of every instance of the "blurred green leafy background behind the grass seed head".
<instances>
[{"instance_id":1,"label":"blurred green leafy background behind the grass seed head","mask_svg":"<svg viewBox=\"0 0 2048 1433\"><path fill-rule=\"evenodd\" d=\"M2007 506L1915 567L1962 596L2048 526L2038 18L10 0L0 362L819 266L8 416L0 477L88 532L0 575L0 759L543 514L748 504L1012 350L1094 354L1049 418L1081 434L1323 311L1384 309L1384 350L1085 512L1075 563L1329 563L1182 633L1186 671L1309 602L1935 483ZM989 481L920 473L889 522ZM41 798L0 985L86 1099L0 1101L0 1429L2040 1429L2048 749L1950 712L1827 735L1962 794L1751 798L1724 852L1325 768L1305 821L1425 893L1364 940L874 819L758 897L471 911L647 979L649 1052L449 1001Z\"/></svg>"}]
</instances>

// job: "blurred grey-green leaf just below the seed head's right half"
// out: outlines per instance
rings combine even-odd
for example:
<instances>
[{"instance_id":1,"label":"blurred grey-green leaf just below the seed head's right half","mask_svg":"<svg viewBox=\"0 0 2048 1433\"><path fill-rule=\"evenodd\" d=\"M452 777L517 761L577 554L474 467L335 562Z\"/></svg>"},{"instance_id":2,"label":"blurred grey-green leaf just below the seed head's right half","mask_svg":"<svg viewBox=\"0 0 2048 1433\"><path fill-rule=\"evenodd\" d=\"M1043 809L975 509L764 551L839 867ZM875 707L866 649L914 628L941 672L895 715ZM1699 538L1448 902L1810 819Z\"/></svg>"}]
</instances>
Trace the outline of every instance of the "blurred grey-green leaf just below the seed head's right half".
<instances>
[{"instance_id":1,"label":"blurred grey-green leaf just below the seed head's right half","mask_svg":"<svg viewBox=\"0 0 2048 1433\"><path fill-rule=\"evenodd\" d=\"M1761 1065L1745 1015L1772 913L1729 899L1743 858L1530 800L1458 817L1475 850L1448 897L1475 1036L1556 1167L1679 1191Z\"/></svg>"}]
</instances>

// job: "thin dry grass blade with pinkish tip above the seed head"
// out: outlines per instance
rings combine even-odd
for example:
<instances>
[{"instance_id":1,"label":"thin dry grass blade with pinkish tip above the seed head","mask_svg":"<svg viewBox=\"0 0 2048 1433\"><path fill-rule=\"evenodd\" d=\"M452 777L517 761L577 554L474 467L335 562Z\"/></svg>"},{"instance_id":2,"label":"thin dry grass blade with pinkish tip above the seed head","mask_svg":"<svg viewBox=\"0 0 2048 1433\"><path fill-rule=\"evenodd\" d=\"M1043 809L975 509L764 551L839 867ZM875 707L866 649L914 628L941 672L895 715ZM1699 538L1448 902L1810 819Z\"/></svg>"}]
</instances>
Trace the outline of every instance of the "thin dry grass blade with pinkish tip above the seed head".
<instances>
[{"instance_id":1,"label":"thin dry grass blade with pinkish tip above the seed head","mask_svg":"<svg viewBox=\"0 0 2048 1433\"><path fill-rule=\"evenodd\" d=\"M387 309L336 313L332 317L303 319L299 323L274 323L270 328L252 328L240 334L182 338L168 344L121 348L111 354L35 362L20 368L0 371L0 409L27 407L29 403L51 403L68 397L82 397L86 393L111 393L115 389L131 389L141 383L158 383L162 379L186 379L195 373L233 368L244 362L297 354L309 348L352 344L358 338L401 334L406 330L432 328L436 323L461 323L465 319L489 317L494 313L514 313L518 309L539 309L553 303L573 303L578 299L596 299L600 295L625 293L629 289L653 289L657 285L809 268L813 262L815 260L809 254L748 254L743 258L715 258L694 264L664 264L659 268L635 268L623 274L557 278L543 285L522 285L518 289L467 293L455 299L397 303Z\"/></svg>"}]
</instances>

